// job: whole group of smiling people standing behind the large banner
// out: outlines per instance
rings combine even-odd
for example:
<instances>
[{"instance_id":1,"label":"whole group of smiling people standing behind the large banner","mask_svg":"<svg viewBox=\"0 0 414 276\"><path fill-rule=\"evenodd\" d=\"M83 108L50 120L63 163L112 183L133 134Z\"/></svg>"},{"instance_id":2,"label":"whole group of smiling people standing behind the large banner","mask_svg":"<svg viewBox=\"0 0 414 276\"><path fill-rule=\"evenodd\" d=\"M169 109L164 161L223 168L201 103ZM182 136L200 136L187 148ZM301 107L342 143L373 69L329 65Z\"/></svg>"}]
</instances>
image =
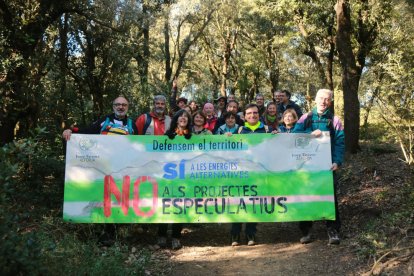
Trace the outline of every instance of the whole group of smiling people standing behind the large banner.
<instances>
[{"instance_id":1,"label":"whole group of smiling people standing behind the large banner","mask_svg":"<svg viewBox=\"0 0 414 276\"><path fill-rule=\"evenodd\" d=\"M173 87L176 89L176 87ZM302 113L299 105L290 100L287 90L276 91L273 100L265 106L262 94L257 94L255 103L247 104L242 112L239 112L239 103L234 95L220 97L213 103L205 103L201 110L197 103L192 101L187 105L187 99L179 98L172 105L172 113L167 112L167 100L163 95L157 95L153 99L151 112L140 115L136 120L127 116L128 100L117 97L113 101L113 113L104 116L91 126L86 128L71 128L63 132L63 138L67 141L73 132L83 134L121 134L121 135L167 135L170 139L175 136L184 136L190 139L192 135L212 134L256 134L256 133L311 133L314 137L320 137L322 131L329 131L331 137L332 167L334 172L334 198L336 219L327 221L329 244L339 244L340 218L338 213L338 201L336 197L337 179L335 171L343 161L344 155L344 131L342 123L334 116L329 107L333 101L333 92L328 89L320 89L315 97L316 106L309 113ZM246 223L245 234L248 245L256 244L257 223ZM181 248L180 223L172 224L171 246L173 249ZM301 243L312 241L311 221L299 223L302 232ZM167 246L168 224L158 225L157 242L160 247ZM240 244L242 223L232 223L231 245Z\"/></svg>"}]
</instances>

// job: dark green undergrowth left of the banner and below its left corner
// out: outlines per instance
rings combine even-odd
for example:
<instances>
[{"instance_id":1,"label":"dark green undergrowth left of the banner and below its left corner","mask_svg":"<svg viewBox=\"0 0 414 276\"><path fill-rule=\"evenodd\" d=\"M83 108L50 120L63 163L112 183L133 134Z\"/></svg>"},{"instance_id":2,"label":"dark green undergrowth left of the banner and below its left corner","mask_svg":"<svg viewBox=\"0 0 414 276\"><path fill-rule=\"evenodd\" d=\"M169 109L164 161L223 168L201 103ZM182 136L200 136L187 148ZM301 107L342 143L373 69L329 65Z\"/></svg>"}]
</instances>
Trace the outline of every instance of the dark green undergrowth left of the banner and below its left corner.
<instances>
[{"instance_id":1,"label":"dark green undergrowth left of the banner and below its left corner","mask_svg":"<svg viewBox=\"0 0 414 276\"><path fill-rule=\"evenodd\" d=\"M2 275L143 275L149 252L120 243L103 249L101 225L62 221L63 162L46 129L0 148Z\"/></svg>"}]
</instances>

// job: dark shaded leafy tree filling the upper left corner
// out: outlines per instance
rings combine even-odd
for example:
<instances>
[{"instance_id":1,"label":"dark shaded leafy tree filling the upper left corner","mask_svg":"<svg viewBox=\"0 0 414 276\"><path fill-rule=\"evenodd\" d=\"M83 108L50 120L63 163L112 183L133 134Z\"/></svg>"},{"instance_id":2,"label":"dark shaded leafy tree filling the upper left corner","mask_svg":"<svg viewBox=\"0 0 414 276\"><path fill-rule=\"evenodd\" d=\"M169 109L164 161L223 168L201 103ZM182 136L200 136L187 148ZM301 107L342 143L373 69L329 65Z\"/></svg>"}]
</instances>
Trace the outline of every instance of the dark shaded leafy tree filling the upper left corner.
<instances>
[{"instance_id":1,"label":"dark shaded leafy tree filling the upper left corner","mask_svg":"<svg viewBox=\"0 0 414 276\"><path fill-rule=\"evenodd\" d=\"M19 121L28 120L26 128L37 124L38 95L33 90L32 67L42 36L65 12L82 10L81 1L38 0L30 2L0 1L1 12L1 106L0 145L11 142Z\"/></svg>"}]
</instances>

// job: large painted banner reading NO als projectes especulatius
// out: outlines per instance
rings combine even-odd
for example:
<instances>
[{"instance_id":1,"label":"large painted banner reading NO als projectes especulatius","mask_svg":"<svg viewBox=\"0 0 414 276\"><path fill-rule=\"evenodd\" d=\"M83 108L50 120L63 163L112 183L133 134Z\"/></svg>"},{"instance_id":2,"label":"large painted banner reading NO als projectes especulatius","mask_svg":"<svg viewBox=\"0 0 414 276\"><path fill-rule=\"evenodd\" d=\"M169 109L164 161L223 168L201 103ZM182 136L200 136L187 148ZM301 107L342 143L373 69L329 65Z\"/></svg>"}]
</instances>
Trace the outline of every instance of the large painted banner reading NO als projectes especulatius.
<instances>
[{"instance_id":1,"label":"large painted banner reading NO als projectes especulatius","mask_svg":"<svg viewBox=\"0 0 414 276\"><path fill-rule=\"evenodd\" d=\"M335 219L329 132L72 135L64 220L77 223Z\"/></svg>"}]
</instances>

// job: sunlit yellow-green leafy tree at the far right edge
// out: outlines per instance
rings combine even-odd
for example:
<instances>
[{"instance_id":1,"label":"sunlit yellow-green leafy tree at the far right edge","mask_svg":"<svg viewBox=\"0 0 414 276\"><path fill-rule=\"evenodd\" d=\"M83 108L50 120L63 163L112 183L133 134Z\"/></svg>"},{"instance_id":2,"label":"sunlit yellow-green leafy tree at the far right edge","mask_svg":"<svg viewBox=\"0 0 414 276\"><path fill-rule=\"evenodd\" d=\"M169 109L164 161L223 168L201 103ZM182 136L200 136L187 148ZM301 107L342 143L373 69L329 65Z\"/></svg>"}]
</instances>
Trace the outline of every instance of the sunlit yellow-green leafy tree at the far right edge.
<instances>
[{"instance_id":1,"label":"sunlit yellow-green leafy tree at the far right edge","mask_svg":"<svg viewBox=\"0 0 414 276\"><path fill-rule=\"evenodd\" d=\"M363 78L366 98L364 126L368 129L368 114L379 121L388 135L399 143L403 160L414 165L414 13L408 3L398 1L379 36L377 48ZM377 121L378 122L378 121ZM385 123L385 124L384 124Z\"/></svg>"}]
</instances>

